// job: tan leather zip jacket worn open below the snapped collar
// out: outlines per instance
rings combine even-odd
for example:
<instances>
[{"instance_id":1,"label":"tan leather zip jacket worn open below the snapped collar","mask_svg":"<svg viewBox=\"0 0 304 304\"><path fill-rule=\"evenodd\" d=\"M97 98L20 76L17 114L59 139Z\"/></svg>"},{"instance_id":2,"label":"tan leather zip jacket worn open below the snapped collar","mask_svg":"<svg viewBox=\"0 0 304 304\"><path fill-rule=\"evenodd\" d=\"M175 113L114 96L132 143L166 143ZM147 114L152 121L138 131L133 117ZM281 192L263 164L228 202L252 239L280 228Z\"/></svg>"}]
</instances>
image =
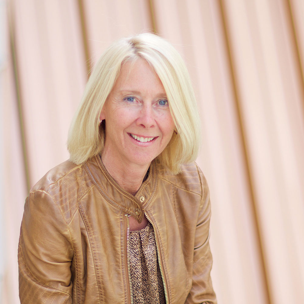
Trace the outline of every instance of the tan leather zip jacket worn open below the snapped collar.
<instances>
[{"instance_id":1,"label":"tan leather zip jacket worn open below the snapped collar","mask_svg":"<svg viewBox=\"0 0 304 304\"><path fill-rule=\"evenodd\" d=\"M19 240L21 303L131 303L126 214L152 223L167 303L216 303L210 203L196 166L172 175L152 162L135 196L100 157L50 170L30 191Z\"/></svg>"}]
</instances>

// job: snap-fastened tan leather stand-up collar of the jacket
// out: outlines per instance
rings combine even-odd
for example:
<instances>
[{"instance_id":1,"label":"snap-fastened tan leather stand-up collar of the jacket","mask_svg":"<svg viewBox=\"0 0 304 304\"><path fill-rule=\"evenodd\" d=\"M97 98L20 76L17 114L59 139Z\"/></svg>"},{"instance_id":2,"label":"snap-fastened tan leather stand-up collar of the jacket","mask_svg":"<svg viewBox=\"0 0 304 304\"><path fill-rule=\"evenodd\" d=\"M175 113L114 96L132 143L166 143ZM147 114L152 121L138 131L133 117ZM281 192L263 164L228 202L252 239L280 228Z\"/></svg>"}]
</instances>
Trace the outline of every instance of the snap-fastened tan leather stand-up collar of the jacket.
<instances>
[{"instance_id":1,"label":"snap-fastened tan leather stand-up collar of the jacket","mask_svg":"<svg viewBox=\"0 0 304 304\"><path fill-rule=\"evenodd\" d=\"M139 223L143 220L143 203L148 206L157 188L157 164L152 161L147 179L133 196L123 190L106 170L99 155L92 157L84 168L101 195L113 206L132 215Z\"/></svg>"}]
</instances>

